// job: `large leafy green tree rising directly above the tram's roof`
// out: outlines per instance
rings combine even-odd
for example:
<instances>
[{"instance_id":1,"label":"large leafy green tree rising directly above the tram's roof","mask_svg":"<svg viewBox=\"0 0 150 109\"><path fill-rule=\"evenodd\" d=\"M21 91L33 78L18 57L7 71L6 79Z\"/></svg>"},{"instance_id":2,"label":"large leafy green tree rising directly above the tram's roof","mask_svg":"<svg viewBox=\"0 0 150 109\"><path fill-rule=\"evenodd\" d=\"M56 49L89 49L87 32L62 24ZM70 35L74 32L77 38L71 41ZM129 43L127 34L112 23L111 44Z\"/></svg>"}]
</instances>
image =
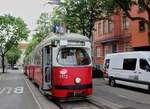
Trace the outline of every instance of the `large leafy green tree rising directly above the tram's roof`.
<instances>
[{"instance_id":1,"label":"large leafy green tree rising directly above the tram's roof","mask_svg":"<svg viewBox=\"0 0 150 109\"><path fill-rule=\"evenodd\" d=\"M112 10L109 2L113 3L109 0L65 0L55 9L53 19L61 18L71 31L81 31L91 38L95 22L109 17Z\"/></svg>"}]
</instances>

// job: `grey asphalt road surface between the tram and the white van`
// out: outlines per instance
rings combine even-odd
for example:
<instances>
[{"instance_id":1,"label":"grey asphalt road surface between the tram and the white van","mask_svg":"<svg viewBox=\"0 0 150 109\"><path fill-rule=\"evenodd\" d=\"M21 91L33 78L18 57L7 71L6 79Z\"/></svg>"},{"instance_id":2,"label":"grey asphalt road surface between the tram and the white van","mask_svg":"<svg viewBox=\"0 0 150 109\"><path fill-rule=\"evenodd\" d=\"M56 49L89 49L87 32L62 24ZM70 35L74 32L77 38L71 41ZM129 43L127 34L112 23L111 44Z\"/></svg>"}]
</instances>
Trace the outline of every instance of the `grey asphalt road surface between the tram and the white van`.
<instances>
[{"instance_id":1,"label":"grey asphalt road surface between the tram and the white van","mask_svg":"<svg viewBox=\"0 0 150 109\"><path fill-rule=\"evenodd\" d=\"M146 90L111 87L102 79L94 80L92 100L112 109L150 109L150 95Z\"/></svg>"}]
</instances>

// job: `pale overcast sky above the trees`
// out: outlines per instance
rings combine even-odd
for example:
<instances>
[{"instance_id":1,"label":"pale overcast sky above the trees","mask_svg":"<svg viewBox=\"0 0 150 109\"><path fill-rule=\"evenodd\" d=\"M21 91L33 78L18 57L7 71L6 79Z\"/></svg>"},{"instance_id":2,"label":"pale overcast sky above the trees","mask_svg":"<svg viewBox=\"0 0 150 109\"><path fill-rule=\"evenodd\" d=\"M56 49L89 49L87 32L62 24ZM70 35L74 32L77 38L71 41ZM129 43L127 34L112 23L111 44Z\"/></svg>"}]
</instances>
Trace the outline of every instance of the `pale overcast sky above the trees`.
<instances>
[{"instance_id":1,"label":"pale overcast sky above the trees","mask_svg":"<svg viewBox=\"0 0 150 109\"><path fill-rule=\"evenodd\" d=\"M54 5L44 5L48 0L0 0L0 15L21 17L30 30L36 27L41 12L51 13Z\"/></svg>"}]
</instances>

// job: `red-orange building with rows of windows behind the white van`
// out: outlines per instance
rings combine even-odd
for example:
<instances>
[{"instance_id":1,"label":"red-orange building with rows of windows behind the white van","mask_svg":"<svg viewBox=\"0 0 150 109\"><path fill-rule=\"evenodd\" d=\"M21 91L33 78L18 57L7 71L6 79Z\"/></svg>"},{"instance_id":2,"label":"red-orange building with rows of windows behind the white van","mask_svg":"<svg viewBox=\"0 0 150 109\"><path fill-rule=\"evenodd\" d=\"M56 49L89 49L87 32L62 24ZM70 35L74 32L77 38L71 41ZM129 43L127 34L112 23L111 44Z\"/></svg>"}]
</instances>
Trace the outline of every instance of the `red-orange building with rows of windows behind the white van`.
<instances>
[{"instance_id":1,"label":"red-orange building with rows of windows behind the white van","mask_svg":"<svg viewBox=\"0 0 150 109\"><path fill-rule=\"evenodd\" d=\"M147 17L136 5L133 5L131 14ZM131 21L123 12L115 13L110 19L96 22L93 33L93 61L95 67L101 70L108 53L149 50L143 21Z\"/></svg>"}]
</instances>

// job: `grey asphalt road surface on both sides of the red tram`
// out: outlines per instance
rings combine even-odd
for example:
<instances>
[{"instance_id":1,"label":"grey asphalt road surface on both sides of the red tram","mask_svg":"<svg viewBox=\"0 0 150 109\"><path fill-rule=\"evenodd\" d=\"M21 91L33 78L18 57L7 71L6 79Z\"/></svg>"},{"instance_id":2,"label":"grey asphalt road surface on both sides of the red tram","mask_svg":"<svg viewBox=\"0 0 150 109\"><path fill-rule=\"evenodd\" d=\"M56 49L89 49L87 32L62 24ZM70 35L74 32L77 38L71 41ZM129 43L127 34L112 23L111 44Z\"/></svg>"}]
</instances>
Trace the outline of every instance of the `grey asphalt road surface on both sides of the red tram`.
<instances>
[{"instance_id":1,"label":"grey asphalt road surface on both sides of the red tram","mask_svg":"<svg viewBox=\"0 0 150 109\"><path fill-rule=\"evenodd\" d=\"M51 100L39 93L22 71L7 72L0 74L0 109L58 109ZM100 78L93 79L93 95L89 100L103 109L150 109L150 95L146 90L110 87L107 81ZM71 105L79 108L76 102L70 102Z\"/></svg>"}]
</instances>

